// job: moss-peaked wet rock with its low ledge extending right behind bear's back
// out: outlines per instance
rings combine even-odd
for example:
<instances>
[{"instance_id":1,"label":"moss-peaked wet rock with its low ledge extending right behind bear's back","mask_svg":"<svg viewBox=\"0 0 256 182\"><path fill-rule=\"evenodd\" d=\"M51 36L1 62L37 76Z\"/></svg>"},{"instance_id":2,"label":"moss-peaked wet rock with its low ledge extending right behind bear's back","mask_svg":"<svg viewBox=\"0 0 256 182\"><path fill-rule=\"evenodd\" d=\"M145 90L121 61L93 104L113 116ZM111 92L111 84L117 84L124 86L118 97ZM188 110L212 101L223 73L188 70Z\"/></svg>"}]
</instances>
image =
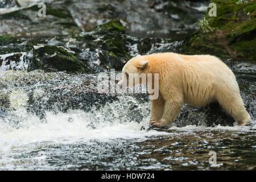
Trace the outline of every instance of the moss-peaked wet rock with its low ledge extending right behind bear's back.
<instances>
[{"instance_id":1,"label":"moss-peaked wet rock with its low ledge extending right behind bear's back","mask_svg":"<svg viewBox=\"0 0 256 182\"><path fill-rule=\"evenodd\" d=\"M79 59L86 61L94 71L101 72L111 68L121 71L123 65L138 54L179 52L177 44L171 39L128 36L119 20L110 20L91 31L82 32L69 48L74 51L82 49L78 51Z\"/></svg>"}]
</instances>

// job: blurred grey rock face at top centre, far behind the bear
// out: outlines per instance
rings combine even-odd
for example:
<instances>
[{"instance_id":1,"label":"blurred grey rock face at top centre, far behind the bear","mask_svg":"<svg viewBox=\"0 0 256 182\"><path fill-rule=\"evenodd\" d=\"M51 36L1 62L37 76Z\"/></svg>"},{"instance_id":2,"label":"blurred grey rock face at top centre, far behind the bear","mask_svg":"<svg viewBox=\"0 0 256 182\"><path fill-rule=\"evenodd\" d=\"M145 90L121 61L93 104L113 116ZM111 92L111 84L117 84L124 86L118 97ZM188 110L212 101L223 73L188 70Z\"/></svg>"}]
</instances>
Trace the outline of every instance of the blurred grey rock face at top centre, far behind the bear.
<instances>
[{"instance_id":1,"label":"blurred grey rock face at top centre, far behind the bear","mask_svg":"<svg viewBox=\"0 0 256 182\"><path fill-rule=\"evenodd\" d=\"M127 27L127 32L134 34L168 34L174 29L195 28L193 23L204 15L209 4L209 1L165 0L82 2L72 1L68 3L68 8L85 31L118 18Z\"/></svg>"}]
</instances>

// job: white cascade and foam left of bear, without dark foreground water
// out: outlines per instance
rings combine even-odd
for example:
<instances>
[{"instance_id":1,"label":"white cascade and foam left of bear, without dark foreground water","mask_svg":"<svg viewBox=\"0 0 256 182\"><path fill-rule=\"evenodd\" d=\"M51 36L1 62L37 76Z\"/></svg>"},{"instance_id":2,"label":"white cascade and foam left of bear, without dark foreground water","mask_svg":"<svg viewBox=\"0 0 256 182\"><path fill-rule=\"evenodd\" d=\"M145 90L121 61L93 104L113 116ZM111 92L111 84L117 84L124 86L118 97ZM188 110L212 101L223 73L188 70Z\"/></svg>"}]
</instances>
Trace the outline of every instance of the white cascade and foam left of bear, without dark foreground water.
<instances>
[{"instance_id":1,"label":"white cascade and foam left of bear, without dark foreground water","mask_svg":"<svg viewBox=\"0 0 256 182\"><path fill-rule=\"evenodd\" d=\"M172 126L163 131L141 131L141 126L150 119L150 103L141 102L133 96L118 96L117 100L106 101L100 108L92 106L89 111L79 109L69 109L67 112L59 109L46 110L42 119L27 109L29 93L33 93L31 97L33 102L38 102L39 108L43 110L44 104L47 103L43 100L48 100L52 94L47 90L67 88L67 92L70 92L77 85L83 85L88 76L74 76L63 72L43 73L42 71L29 73L3 71L0 72L0 76L4 85L0 95L8 98L9 101L6 102L6 105L10 104L10 107L3 111L5 115L3 117L0 115L0 153L13 150L18 146L25 147L28 144L38 142L77 143L95 139L104 141L118 138L145 140L147 137L155 135L175 137L179 135L179 131L184 131L184 135L186 133L191 135L195 131L247 132L256 129L255 121L253 121L252 126L244 127L189 125L185 127ZM96 80L93 76L91 77L90 84ZM61 93L56 92L54 94L59 97L58 94ZM140 122L135 122L135 119L131 119L133 117L130 115Z\"/></svg>"}]
</instances>

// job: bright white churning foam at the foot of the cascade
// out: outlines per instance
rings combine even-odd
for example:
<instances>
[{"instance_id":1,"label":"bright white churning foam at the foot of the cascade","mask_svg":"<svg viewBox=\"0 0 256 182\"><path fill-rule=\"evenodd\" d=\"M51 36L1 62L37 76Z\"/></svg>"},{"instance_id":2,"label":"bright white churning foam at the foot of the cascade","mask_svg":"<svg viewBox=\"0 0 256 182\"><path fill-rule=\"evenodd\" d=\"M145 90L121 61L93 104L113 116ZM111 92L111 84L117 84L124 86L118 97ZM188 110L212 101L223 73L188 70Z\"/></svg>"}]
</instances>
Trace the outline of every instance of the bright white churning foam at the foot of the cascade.
<instances>
[{"instance_id":1,"label":"bright white churning foam at the foot of the cascade","mask_svg":"<svg viewBox=\"0 0 256 182\"><path fill-rule=\"evenodd\" d=\"M7 154L16 147L26 147L30 143L38 142L53 142L53 143L77 143L82 141L88 141L92 139L106 141L109 139L140 139L144 140L146 137L156 135L173 135L164 131L141 131L141 126L146 125L149 121L148 117L143 118L141 123L134 121L123 122L119 121L117 115L120 113L117 111L117 115L113 116L111 121L104 118L108 115L106 109L112 108L117 103L106 105L103 110L94 110L85 112L82 110L68 110L67 113L59 112L53 114L47 111L46 119L42 122L35 114L28 113L23 107L27 101L27 96L22 90L10 94L11 106L15 108L7 117L0 118L0 153ZM15 102L13 99L16 98ZM114 113L115 111L112 110ZM126 113L128 114L128 113ZM123 117L126 117L123 115ZM12 120L18 119L19 123L13 127L10 123ZM91 127L92 121L95 128ZM205 127L188 125L185 127L172 126L166 131L186 131L187 134L191 134L193 131L212 131L212 130L230 130L238 132L246 132L251 129L256 129L255 121L253 121L253 127L250 126L216 126Z\"/></svg>"}]
</instances>

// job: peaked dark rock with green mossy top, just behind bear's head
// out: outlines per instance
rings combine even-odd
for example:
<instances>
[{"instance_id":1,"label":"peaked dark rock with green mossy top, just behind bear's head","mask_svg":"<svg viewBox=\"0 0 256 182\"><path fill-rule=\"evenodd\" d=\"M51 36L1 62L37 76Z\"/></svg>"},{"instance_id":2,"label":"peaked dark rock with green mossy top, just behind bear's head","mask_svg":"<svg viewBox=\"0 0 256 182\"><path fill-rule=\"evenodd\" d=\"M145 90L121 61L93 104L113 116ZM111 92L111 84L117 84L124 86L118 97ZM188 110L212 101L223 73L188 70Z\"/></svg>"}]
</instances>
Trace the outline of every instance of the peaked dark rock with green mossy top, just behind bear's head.
<instances>
[{"instance_id":1,"label":"peaked dark rock with green mossy top, just behind bear's head","mask_svg":"<svg viewBox=\"0 0 256 182\"><path fill-rule=\"evenodd\" d=\"M129 38L124 33L125 27L119 20L114 19L93 28L83 36L75 37L76 40L85 44L81 59L91 63L98 59L99 67L93 68L96 71L110 68L120 71L126 61L131 59L127 47Z\"/></svg>"}]
</instances>

